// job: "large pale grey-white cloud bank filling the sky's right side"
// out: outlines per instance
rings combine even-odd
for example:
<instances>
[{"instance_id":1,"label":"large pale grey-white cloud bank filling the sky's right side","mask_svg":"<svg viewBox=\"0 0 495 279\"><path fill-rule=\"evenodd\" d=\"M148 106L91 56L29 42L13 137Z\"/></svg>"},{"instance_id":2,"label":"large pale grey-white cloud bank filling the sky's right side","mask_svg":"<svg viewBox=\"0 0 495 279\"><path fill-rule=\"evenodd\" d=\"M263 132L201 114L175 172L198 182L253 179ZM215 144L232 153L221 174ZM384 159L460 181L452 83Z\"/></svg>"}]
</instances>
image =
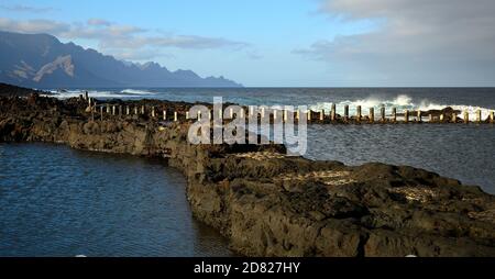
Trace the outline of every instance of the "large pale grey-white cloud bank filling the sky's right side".
<instances>
[{"instance_id":1,"label":"large pale grey-white cloud bank filling the sky's right side","mask_svg":"<svg viewBox=\"0 0 495 279\"><path fill-rule=\"evenodd\" d=\"M380 82L495 85L493 0L326 0L320 11L343 21L380 20L381 29L294 53Z\"/></svg>"}]
</instances>

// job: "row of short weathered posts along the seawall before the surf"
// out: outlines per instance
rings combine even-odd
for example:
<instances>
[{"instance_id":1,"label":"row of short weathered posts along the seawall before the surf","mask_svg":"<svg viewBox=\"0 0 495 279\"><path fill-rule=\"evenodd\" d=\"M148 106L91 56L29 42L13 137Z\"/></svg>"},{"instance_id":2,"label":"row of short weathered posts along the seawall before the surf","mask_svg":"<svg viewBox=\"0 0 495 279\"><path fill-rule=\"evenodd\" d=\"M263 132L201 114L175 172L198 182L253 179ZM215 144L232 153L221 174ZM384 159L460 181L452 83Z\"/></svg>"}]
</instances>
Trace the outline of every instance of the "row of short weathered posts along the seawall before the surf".
<instances>
[{"instance_id":1,"label":"row of short weathered posts along the seawall before the surf","mask_svg":"<svg viewBox=\"0 0 495 279\"><path fill-rule=\"evenodd\" d=\"M88 99L88 100L89 100L89 105L91 105L91 99ZM94 103L94 105L96 107L96 102ZM99 105L99 108L100 108L100 114L101 114L101 119L102 119L103 118L103 105ZM122 105L106 104L105 105L105 111L106 111L107 114L111 114L111 115L117 115L117 114L119 114L119 115L122 115L122 114L130 115L131 114L131 107L127 105L125 107L125 111L123 111L122 110ZM138 114L145 114L145 105L134 107L132 112L134 114L136 114L136 115ZM243 112L244 112L244 110L241 110L241 115L240 115L241 118L244 116ZM252 107L250 107L249 112L250 112L250 115L253 115L254 111L253 111ZM287 120L287 110L272 110L273 119L276 120L278 118L278 112L282 112L282 114L280 114L282 115L282 120L286 121ZM311 111L311 110L308 110L306 113L307 113L307 120L309 122L314 121L312 116L315 115L315 113L318 115L317 119L315 119L315 120L324 121L326 119L328 119L327 114L324 114L324 110L320 110L320 111L316 111L316 112ZM167 111L163 110L162 114L163 114L162 115L163 120L167 120ZM186 119L189 119L188 114L189 113L186 111ZM233 114L234 114L233 110L231 109L230 110L230 116L232 118ZM261 118L265 118L265 110L264 110L264 108L261 108L260 115L261 115ZM300 111L299 110L295 111L296 120L299 119L299 115L300 115ZM453 122L453 123L458 122L458 115L457 115L455 112L449 113L448 115L449 115L450 119L447 119L447 114L443 114L443 113L440 114L438 119L435 119L432 114L429 114L429 122L436 122L436 121L439 121L439 122ZM153 119L157 118L157 113L155 111L155 107L151 108L151 116ZM223 113L222 113L221 110L219 111L219 116L220 118L223 116ZM201 118L201 115L198 113L198 119L200 119L200 118ZM210 114L209 118L211 119L211 114ZM332 121L332 122L338 120L337 119L336 104L332 104L332 109L330 111L329 118L330 118L330 121ZM348 122L352 118L349 114L349 105L344 105L344 113L343 113L342 120L344 122ZM364 119L364 116L363 116L363 113L362 113L361 105L358 105L356 107L356 113L355 113L355 116L354 116L354 121L355 122L363 122L363 119ZM490 120L491 123L494 123L494 112L493 111L490 112L488 120ZM178 113L177 113L177 111L174 112L174 121L178 121ZM370 108L366 121L371 122L371 123L376 121L376 119L375 119L375 109L374 108ZM408 122L411 122L411 121L422 122L422 113L421 113L420 110L417 110L417 111L405 110L404 111L404 120L403 121L405 123L408 123ZM482 111L477 110L475 112L475 122L482 122L482 121L483 121L482 120ZM387 119L387 116L385 114L385 107L382 107L381 110L380 110L378 122L384 122L384 123L385 122L397 122L397 109L396 108L392 108L392 116L391 116L391 119ZM463 113L463 122L465 122L465 123L470 122L470 114L469 114L468 111L464 111L464 113Z\"/></svg>"}]
</instances>

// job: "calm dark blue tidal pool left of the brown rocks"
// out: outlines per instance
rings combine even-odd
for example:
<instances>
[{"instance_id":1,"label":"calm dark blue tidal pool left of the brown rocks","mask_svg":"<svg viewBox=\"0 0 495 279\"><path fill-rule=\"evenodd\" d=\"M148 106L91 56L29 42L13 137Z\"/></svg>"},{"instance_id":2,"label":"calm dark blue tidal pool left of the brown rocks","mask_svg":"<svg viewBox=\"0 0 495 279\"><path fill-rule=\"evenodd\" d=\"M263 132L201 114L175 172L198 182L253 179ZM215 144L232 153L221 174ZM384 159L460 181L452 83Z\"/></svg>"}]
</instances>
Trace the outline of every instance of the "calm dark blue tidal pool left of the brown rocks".
<instances>
[{"instance_id":1,"label":"calm dark blue tidal pool left of the brown rocks","mask_svg":"<svg viewBox=\"0 0 495 279\"><path fill-rule=\"evenodd\" d=\"M0 144L0 256L230 256L163 161Z\"/></svg>"}]
</instances>

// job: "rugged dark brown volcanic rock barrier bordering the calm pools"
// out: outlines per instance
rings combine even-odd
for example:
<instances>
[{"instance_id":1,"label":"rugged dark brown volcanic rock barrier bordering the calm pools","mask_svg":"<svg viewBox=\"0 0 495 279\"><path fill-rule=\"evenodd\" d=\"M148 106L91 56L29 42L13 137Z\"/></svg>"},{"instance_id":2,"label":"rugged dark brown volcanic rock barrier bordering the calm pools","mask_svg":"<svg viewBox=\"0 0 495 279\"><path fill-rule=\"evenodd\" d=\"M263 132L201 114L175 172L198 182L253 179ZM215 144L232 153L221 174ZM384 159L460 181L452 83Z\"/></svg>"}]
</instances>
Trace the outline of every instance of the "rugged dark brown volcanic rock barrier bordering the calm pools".
<instances>
[{"instance_id":1,"label":"rugged dark brown volcanic rock barrier bordering the calm pools","mask_svg":"<svg viewBox=\"0 0 495 279\"><path fill-rule=\"evenodd\" d=\"M0 97L0 142L166 158L187 178L195 217L248 256L495 256L495 197L479 187L407 166L287 157L283 145L191 145L188 123L91 121L86 107Z\"/></svg>"}]
</instances>

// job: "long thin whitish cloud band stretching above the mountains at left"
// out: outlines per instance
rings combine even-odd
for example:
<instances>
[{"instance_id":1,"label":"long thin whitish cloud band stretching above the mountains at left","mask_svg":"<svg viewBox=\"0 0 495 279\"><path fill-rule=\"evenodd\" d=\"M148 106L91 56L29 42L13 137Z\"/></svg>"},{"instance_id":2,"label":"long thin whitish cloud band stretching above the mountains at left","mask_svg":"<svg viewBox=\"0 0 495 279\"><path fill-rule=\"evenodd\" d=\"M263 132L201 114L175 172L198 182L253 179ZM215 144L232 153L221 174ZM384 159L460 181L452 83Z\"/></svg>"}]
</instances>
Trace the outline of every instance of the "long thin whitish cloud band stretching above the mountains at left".
<instances>
[{"instance_id":1,"label":"long thin whitish cloud band stretching above the mountains at left","mask_svg":"<svg viewBox=\"0 0 495 279\"><path fill-rule=\"evenodd\" d=\"M0 18L0 30L21 33L47 33L66 40L92 40L101 51L128 59L151 59L153 54L162 57L165 54L161 48L229 48L238 51L249 46L246 43L222 37L153 33L139 26L117 24L102 19L89 19L85 23L63 23L53 20L23 21Z\"/></svg>"}]
</instances>

